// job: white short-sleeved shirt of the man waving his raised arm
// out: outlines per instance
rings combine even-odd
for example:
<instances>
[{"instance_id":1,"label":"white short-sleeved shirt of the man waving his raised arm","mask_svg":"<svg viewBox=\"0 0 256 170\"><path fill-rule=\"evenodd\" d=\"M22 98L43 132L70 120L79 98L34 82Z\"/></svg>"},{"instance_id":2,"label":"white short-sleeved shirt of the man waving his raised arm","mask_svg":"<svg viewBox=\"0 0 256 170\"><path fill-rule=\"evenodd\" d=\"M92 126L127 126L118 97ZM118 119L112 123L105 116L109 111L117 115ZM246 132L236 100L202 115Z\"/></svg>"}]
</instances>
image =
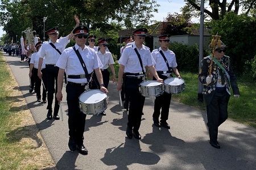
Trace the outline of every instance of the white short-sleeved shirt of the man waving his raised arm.
<instances>
[{"instance_id":1,"label":"white short-sleeved shirt of the man waving his raised arm","mask_svg":"<svg viewBox=\"0 0 256 170\"><path fill-rule=\"evenodd\" d=\"M69 36L69 35L68 35ZM68 36L66 37L60 37L53 45L56 46L56 49L59 49L60 52L63 52L66 48L69 40ZM45 63L47 65L55 65L58 61L60 54L57 52L56 49L54 49L51 45L51 40L48 42L44 42L41 46L41 48L38 51L38 56L40 58L44 58Z\"/></svg>"}]
</instances>

